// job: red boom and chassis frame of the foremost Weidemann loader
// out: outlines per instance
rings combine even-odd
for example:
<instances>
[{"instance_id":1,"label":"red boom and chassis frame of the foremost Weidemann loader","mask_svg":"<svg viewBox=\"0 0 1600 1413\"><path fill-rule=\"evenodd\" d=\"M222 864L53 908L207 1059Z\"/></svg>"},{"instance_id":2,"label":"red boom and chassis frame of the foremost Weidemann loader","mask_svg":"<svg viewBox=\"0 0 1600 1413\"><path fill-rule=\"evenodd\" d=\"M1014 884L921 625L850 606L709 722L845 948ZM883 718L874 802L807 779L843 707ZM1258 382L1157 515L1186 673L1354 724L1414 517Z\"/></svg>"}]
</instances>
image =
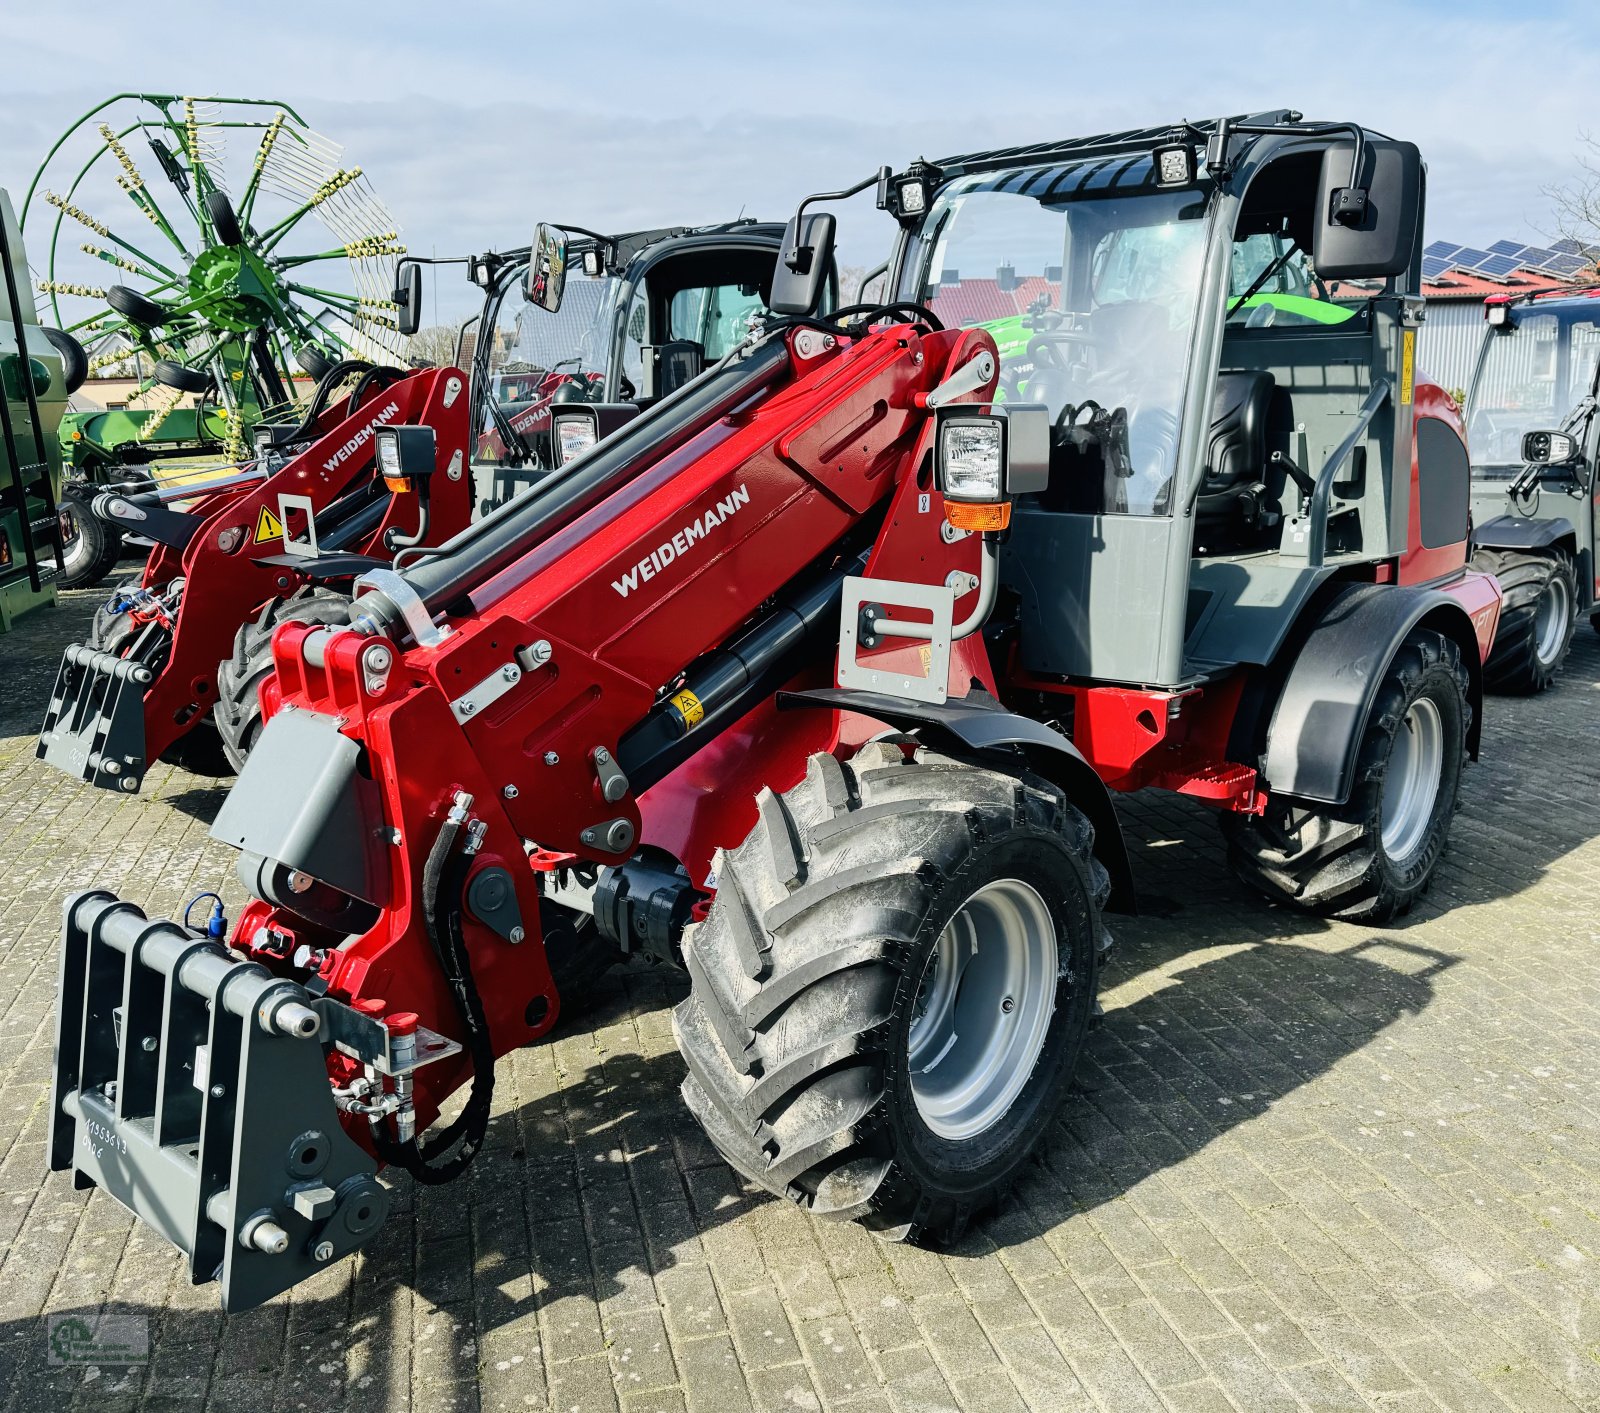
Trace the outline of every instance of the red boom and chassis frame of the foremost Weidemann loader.
<instances>
[{"instance_id":1,"label":"red boom and chassis frame of the foremost Weidemann loader","mask_svg":"<svg viewBox=\"0 0 1600 1413\"><path fill-rule=\"evenodd\" d=\"M432 1029L459 1031L426 936L419 885L445 815L464 792L483 826L472 869L509 874L525 928L514 946L470 911L464 915L493 1048L506 1053L546 1034L560 1013L544 949L534 946L542 938L538 871L557 861L616 863L584 834L621 819L632 837L669 848L709 893L715 851L749 832L762 791L797 783L813 752L882 730L850 714L779 714L766 701L638 799L608 802L597 767L614 760L624 733L686 664L725 643L754 605L832 555L851 530L878 522L869 578L942 584L952 571L979 570L978 538L950 542L938 533L944 507L931 485L933 418L923 397L979 349L992 352L989 334L893 326L813 352L818 344L790 334L790 373L773 390L531 542L475 586L472 611L448 618L440 643L403 651L392 674L373 670L374 661L387 661L387 638L304 624L278 629L278 690L267 709L336 719L365 747L382 803L387 879L378 917L360 936L256 901L235 923L237 949L270 968L306 946L318 957L326 994L373 1015L414 1013ZM987 392L970 398L982 402ZM682 536L685 525L699 533ZM970 594L957 602L957 619L971 608ZM547 645L546 661L515 690L470 715L453 712L469 688L534 643ZM885 648L882 666L907 654L906 670L920 674L920 651L915 643ZM814 675L829 675L827 664L818 662ZM950 694L974 683L997 694L1042 688L1014 674L997 677L981 634L952 648ZM1226 808L1258 808L1254 771L1226 755L1242 683L1237 674L1205 693L1051 690L1086 704L1078 746L1109 784L1160 784ZM330 1064L341 1083L355 1071L338 1055ZM466 1055L419 1072L419 1128L469 1075ZM344 1122L371 1146L363 1119Z\"/></svg>"}]
</instances>

